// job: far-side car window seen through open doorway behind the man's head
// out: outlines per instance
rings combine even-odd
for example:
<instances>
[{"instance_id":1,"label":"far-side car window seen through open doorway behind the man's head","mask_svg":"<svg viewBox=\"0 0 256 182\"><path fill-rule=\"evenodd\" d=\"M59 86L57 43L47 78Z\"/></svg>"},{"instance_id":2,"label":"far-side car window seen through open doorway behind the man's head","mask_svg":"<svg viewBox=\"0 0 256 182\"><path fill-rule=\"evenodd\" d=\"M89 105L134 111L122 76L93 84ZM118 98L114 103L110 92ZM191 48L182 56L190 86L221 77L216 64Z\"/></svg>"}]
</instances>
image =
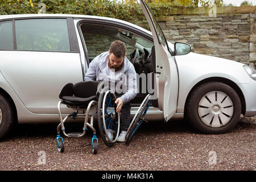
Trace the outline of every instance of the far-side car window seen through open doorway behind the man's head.
<instances>
[{"instance_id":1,"label":"far-side car window seen through open doorway behind the man's head","mask_svg":"<svg viewBox=\"0 0 256 182\"><path fill-rule=\"evenodd\" d=\"M109 51L110 44L115 40L121 40L126 44L126 57L130 59L130 55L134 52L135 44L141 47L152 47L152 43L142 39L137 35L122 30L120 28L101 26L98 24L81 24L82 35L86 44L89 61L100 55L102 52Z\"/></svg>"}]
</instances>

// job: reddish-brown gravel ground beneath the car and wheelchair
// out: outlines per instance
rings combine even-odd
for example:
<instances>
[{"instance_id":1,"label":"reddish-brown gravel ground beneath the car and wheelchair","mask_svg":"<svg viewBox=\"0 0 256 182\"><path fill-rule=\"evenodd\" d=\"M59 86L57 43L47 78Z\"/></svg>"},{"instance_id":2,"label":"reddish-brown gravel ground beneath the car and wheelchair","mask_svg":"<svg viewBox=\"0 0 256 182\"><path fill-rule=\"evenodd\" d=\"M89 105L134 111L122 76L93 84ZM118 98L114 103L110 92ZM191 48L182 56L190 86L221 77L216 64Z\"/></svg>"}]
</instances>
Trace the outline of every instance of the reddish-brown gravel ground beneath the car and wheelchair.
<instances>
[{"instance_id":1,"label":"reddish-brown gravel ground beneath the car and wheelchair","mask_svg":"<svg viewBox=\"0 0 256 182\"><path fill-rule=\"evenodd\" d=\"M97 155L91 131L83 138L63 137L65 152L59 153L56 126L18 125L0 142L0 170L256 170L255 117L241 117L232 132L220 135L197 134L185 121L144 123L129 146L112 148L98 134Z\"/></svg>"}]
</instances>

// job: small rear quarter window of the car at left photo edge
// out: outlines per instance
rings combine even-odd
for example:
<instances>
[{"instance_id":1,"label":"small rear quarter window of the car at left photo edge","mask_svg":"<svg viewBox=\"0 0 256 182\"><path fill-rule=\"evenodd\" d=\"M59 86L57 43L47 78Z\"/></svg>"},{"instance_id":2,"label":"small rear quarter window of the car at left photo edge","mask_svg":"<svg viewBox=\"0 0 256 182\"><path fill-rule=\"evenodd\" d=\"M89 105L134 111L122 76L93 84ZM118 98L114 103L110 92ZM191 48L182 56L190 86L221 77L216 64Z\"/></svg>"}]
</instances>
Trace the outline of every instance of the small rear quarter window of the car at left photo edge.
<instances>
[{"instance_id":1,"label":"small rear quarter window of the car at left photo edge","mask_svg":"<svg viewBox=\"0 0 256 182\"><path fill-rule=\"evenodd\" d=\"M13 23L0 23L0 50L13 50Z\"/></svg>"}]
</instances>

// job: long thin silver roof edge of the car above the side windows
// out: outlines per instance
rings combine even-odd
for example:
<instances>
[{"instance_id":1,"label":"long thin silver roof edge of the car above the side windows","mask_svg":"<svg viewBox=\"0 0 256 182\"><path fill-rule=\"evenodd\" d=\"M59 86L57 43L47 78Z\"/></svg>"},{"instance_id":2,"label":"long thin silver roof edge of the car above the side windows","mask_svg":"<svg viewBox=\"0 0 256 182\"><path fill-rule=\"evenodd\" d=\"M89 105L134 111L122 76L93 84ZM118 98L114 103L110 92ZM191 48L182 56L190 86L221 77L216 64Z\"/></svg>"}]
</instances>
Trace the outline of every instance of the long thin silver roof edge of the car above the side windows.
<instances>
[{"instance_id":1,"label":"long thin silver roof edge of the car above the side windows","mask_svg":"<svg viewBox=\"0 0 256 182\"><path fill-rule=\"evenodd\" d=\"M141 31L146 32L147 34L152 35L152 33L142 27L139 27L135 24L132 24L130 22L126 22L121 19L115 19L115 18L109 18L105 16L92 16L92 15L75 15L75 14L14 14L14 15L0 15L0 20L5 20L5 19L22 19L22 18L75 18L75 19L84 19L84 18L89 18L89 19L98 19L98 20L110 20L114 22L119 22L123 24L127 24L128 26L133 26Z\"/></svg>"}]
</instances>

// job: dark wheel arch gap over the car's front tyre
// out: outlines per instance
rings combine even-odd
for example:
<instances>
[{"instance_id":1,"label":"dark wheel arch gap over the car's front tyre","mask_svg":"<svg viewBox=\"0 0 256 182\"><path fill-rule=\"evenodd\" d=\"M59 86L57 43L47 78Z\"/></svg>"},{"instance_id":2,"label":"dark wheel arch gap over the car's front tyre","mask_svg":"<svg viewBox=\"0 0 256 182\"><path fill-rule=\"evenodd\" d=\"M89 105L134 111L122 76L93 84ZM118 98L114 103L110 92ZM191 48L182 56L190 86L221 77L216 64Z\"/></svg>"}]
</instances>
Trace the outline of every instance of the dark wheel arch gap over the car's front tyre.
<instances>
[{"instance_id":1,"label":"dark wheel arch gap over the car's front tyre","mask_svg":"<svg viewBox=\"0 0 256 182\"><path fill-rule=\"evenodd\" d=\"M189 91L187 98L185 100L185 106L184 106L184 115L186 113L186 109L187 109L187 102L189 99L189 96L191 95L191 93L193 92L193 90L195 90L197 87L199 87L200 85L206 83L206 82L213 82L213 81L218 81L218 82L222 82L224 84L229 85L230 87L232 87L238 94L238 96L240 97L240 101L241 101L241 106L242 106L242 113L243 115L245 115L246 112L246 103L245 103L245 96L243 96L242 90L239 88L239 86L233 82L232 80L229 80L228 78L224 78L224 77L209 77L209 78L205 78L199 82L197 82L197 84L195 84L192 89Z\"/></svg>"}]
</instances>

